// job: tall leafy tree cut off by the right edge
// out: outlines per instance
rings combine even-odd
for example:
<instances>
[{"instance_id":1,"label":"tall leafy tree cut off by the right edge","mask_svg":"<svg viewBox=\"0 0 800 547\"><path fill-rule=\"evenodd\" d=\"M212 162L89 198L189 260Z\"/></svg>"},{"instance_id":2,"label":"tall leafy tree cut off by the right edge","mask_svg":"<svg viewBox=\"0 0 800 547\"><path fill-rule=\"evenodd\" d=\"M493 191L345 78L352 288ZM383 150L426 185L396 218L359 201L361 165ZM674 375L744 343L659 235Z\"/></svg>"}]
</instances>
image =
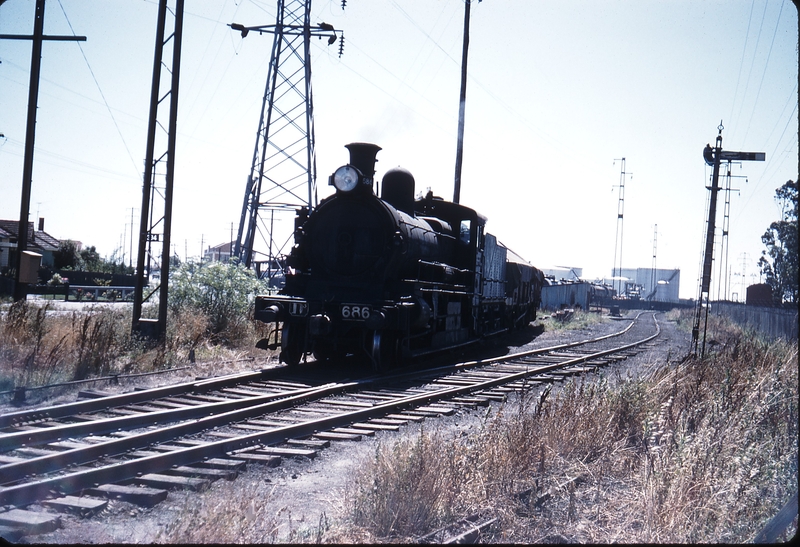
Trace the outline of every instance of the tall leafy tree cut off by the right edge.
<instances>
[{"instance_id":1,"label":"tall leafy tree cut off by the right edge","mask_svg":"<svg viewBox=\"0 0 800 547\"><path fill-rule=\"evenodd\" d=\"M781 206L781 220L770 224L761 236L767 248L761 251L758 265L772 288L773 302L797 304L797 183L790 180L775 190L775 200Z\"/></svg>"}]
</instances>

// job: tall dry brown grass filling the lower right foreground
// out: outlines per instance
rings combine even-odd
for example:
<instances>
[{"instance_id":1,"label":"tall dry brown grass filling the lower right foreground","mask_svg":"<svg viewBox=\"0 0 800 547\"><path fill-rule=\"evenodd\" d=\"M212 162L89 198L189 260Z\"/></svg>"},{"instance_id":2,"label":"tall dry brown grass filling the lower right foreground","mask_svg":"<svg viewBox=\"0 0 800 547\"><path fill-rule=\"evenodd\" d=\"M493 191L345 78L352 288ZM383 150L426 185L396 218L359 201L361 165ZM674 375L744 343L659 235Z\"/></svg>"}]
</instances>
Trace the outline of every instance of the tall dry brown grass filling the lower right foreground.
<instances>
[{"instance_id":1,"label":"tall dry brown grass filling the lower right foreground","mask_svg":"<svg viewBox=\"0 0 800 547\"><path fill-rule=\"evenodd\" d=\"M797 348L714 332L703 361L379 447L349 494L354 537L407 541L489 509L502 542L751 540L797 487Z\"/></svg>"}]
</instances>

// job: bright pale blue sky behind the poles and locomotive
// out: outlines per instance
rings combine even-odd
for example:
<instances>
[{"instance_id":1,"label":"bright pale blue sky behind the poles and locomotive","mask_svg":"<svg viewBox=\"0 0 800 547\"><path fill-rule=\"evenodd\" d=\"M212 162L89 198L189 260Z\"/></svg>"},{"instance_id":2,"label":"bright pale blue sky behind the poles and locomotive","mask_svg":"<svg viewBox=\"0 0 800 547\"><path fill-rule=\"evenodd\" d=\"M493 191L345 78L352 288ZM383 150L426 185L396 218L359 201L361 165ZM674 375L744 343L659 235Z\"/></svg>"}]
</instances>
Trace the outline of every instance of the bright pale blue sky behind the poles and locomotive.
<instances>
[{"instance_id":1,"label":"bright pale blue sky behind the poles and locomotive","mask_svg":"<svg viewBox=\"0 0 800 547\"><path fill-rule=\"evenodd\" d=\"M238 227L272 37L242 39L227 25L273 24L275 4L186 4L173 216L182 258ZM33 8L7 0L0 34L30 33ZM383 148L378 176L402 165L418 190L450 199L462 0L349 0L345 10L315 0L312 11L345 34L341 59L338 44L313 41L320 196L344 145L370 141ZM711 173L702 150L722 120L724 149L767 156L734 166L730 208L732 290L741 294L743 272L758 282L774 191L797 178L792 2L484 0L471 11L461 203L490 232L536 266L609 275L614 160L625 157L624 266L651 266L657 225L657 266L680 268L681 296L696 297ZM105 255L123 243L127 253L131 208L138 224L156 12L149 0L47 2L45 33L88 40L44 44L31 219ZM30 44L0 40L0 61L0 218L16 219Z\"/></svg>"}]
</instances>

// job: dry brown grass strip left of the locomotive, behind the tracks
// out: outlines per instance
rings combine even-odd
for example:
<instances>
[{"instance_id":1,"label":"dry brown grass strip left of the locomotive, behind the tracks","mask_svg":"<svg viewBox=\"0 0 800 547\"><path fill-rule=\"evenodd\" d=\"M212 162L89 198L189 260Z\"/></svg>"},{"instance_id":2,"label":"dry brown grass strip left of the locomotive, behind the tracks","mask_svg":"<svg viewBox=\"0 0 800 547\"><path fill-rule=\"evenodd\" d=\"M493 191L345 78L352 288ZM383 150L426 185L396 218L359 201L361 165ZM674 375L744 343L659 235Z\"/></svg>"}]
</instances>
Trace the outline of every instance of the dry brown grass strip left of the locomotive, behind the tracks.
<instances>
[{"instance_id":1,"label":"dry brown grass strip left of the locomotive, behind the tracks","mask_svg":"<svg viewBox=\"0 0 800 547\"><path fill-rule=\"evenodd\" d=\"M265 356L254 349L264 333L253 321L247 329L237 322L237 343L221 346L209 334L208 318L170 311L166 342L154 346L131 336L130 306L52 306L22 301L0 313L0 391L170 369L186 364L190 353L198 362Z\"/></svg>"}]
</instances>

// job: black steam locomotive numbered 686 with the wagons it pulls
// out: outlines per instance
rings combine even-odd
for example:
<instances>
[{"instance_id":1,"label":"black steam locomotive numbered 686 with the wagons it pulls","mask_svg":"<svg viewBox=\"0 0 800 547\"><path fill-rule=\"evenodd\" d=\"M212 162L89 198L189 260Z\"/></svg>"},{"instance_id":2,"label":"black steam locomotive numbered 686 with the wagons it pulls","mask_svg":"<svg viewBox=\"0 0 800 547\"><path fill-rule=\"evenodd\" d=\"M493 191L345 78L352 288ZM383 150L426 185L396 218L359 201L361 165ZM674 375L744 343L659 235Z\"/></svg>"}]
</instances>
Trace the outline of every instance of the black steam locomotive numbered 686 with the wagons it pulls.
<instances>
[{"instance_id":1,"label":"black steam locomotive numbered 686 with the wagons it pulls","mask_svg":"<svg viewBox=\"0 0 800 547\"><path fill-rule=\"evenodd\" d=\"M485 232L486 217L387 171L373 189L370 143L329 178L336 193L295 218L286 283L260 295L255 318L274 325L257 344L297 365L362 356L383 371L427 352L522 328L536 318L542 272Z\"/></svg>"}]
</instances>

